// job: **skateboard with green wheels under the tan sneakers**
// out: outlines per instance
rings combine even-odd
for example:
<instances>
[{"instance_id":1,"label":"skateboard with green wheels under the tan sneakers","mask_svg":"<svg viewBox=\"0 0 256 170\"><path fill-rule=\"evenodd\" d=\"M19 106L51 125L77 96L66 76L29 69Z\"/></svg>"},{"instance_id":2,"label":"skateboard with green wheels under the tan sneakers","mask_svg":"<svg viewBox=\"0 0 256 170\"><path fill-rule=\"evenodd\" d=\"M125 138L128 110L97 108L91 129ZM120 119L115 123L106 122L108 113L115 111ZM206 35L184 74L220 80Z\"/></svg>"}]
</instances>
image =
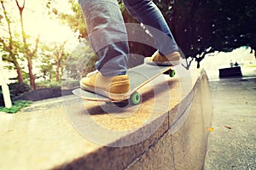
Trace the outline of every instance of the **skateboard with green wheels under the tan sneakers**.
<instances>
[{"instance_id":1,"label":"skateboard with green wheels under the tan sneakers","mask_svg":"<svg viewBox=\"0 0 256 170\"><path fill-rule=\"evenodd\" d=\"M128 95L129 97L129 103L131 105L138 105L141 103L141 94L139 94L137 91L140 88L143 88L148 82L153 81L155 78L159 77L162 74L168 74L170 77L175 77L175 70L173 69L173 66L166 66L166 65L138 65L136 67L133 67L131 69L128 69L127 71L128 76L130 77L130 86L131 91ZM106 96L102 96L100 94L95 94L90 91L85 91L81 88L76 88L73 90L73 94L76 96L79 96L82 99L90 100L90 101L102 101L106 103L117 103L117 102L123 102L127 101L125 100L114 100L109 99Z\"/></svg>"}]
</instances>

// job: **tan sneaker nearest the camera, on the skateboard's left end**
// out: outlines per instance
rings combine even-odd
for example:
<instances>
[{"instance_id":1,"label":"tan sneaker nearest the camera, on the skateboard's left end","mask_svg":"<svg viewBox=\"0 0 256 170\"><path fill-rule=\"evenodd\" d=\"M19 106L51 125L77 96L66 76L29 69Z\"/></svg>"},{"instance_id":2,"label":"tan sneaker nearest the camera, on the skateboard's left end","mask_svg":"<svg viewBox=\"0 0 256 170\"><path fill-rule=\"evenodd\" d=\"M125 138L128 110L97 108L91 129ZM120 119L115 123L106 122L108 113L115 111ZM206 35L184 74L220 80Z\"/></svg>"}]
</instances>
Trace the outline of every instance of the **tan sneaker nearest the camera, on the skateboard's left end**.
<instances>
[{"instance_id":1,"label":"tan sneaker nearest the camera, on the skateboard's left end","mask_svg":"<svg viewBox=\"0 0 256 170\"><path fill-rule=\"evenodd\" d=\"M110 99L129 99L130 79L127 75L103 77L99 71L93 71L81 79L80 88Z\"/></svg>"}]
</instances>

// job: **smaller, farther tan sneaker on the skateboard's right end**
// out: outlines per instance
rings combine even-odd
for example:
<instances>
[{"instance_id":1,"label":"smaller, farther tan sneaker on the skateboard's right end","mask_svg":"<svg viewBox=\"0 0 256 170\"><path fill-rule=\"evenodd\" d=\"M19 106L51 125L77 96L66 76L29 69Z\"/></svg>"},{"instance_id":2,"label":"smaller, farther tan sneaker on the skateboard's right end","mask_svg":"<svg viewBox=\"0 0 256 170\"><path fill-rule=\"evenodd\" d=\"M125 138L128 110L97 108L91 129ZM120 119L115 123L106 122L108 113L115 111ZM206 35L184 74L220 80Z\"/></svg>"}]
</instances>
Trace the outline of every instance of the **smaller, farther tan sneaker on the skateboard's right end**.
<instances>
[{"instance_id":1,"label":"smaller, farther tan sneaker on the skateboard's right end","mask_svg":"<svg viewBox=\"0 0 256 170\"><path fill-rule=\"evenodd\" d=\"M161 55L159 51L156 51L151 57L146 57L145 61L148 65L179 65L180 64L180 54L178 52L173 52L166 56Z\"/></svg>"}]
</instances>

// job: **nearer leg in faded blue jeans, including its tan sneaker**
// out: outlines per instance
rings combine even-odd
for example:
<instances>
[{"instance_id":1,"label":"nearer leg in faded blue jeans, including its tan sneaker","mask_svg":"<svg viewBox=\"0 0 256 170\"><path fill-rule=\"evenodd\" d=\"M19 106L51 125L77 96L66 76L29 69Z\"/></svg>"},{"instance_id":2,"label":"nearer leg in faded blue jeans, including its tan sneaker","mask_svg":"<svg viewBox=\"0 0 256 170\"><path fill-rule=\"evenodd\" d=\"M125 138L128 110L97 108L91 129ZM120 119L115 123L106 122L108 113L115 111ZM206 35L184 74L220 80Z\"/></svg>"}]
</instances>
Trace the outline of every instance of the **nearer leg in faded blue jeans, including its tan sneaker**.
<instances>
[{"instance_id":1,"label":"nearer leg in faded blue jeans, including its tan sneaker","mask_svg":"<svg viewBox=\"0 0 256 170\"><path fill-rule=\"evenodd\" d=\"M130 91L126 75L129 48L119 5L116 0L79 0L79 4L90 44L99 58L97 71L82 78L80 87L111 99L124 99Z\"/></svg>"}]
</instances>

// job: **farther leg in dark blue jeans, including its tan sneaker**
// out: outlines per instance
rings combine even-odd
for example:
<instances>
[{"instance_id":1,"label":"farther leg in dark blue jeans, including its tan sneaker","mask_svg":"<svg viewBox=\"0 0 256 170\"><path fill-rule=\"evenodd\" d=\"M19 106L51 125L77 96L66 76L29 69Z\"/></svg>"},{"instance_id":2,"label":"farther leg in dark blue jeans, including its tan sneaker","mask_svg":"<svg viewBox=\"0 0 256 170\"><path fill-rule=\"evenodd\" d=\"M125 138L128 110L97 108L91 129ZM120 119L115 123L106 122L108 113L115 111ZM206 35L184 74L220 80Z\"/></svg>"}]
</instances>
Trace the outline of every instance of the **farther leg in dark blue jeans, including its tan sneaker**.
<instances>
[{"instance_id":1,"label":"farther leg in dark blue jeans, including its tan sneaker","mask_svg":"<svg viewBox=\"0 0 256 170\"><path fill-rule=\"evenodd\" d=\"M172 65L177 65L180 59L177 43L160 9L151 0L123 0L123 2L129 13L142 22L154 37L159 52L155 53L152 59L160 61L161 64L163 56L166 56L167 60L172 60ZM164 62L170 65L168 61Z\"/></svg>"}]
</instances>

